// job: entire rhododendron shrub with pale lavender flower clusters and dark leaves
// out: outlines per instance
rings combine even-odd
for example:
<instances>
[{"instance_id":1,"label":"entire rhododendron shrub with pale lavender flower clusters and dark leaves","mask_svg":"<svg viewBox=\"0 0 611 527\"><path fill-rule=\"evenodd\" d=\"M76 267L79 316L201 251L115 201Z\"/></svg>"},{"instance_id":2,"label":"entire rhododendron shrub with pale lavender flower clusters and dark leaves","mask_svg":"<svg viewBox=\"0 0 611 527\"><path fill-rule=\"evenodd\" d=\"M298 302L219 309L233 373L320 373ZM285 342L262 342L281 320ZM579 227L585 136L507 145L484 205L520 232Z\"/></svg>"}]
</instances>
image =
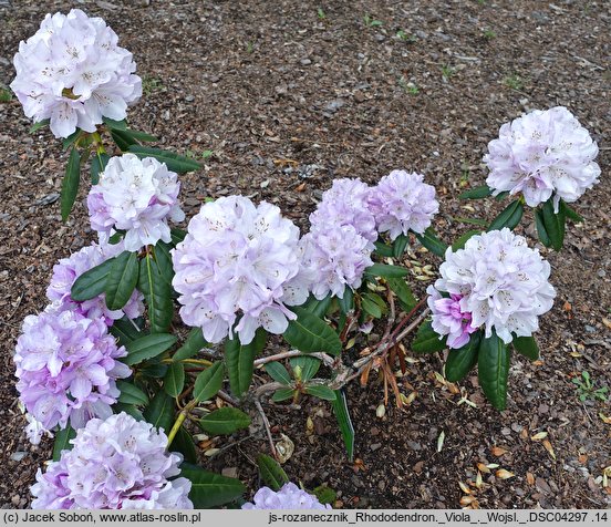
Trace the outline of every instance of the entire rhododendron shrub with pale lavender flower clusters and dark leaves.
<instances>
[{"instance_id":1,"label":"entire rhododendron shrub with pale lavender flower clusters and dark leaves","mask_svg":"<svg viewBox=\"0 0 611 527\"><path fill-rule=\"evenodd\" d=\"M242 196L206 200L185 230L179 177L199 164L144 146L157 138L128 126L139 79L101 19L48 16L14 64L11 85L34 130L50 125L69 151L61 215L89 162L97 235L54 266L49 306L25 318L17 342L28 437L54 437L34 508L239 507L246 486L198 466L191 434L234 434L253 415L273 457L257 457L266 487L244 508L324 508L332 498L289 483L275 459L286 450L265 397L328 401L352 458L351 380L366 384L376 370L402 407L405 353L444 352L448 381L477 364L504 410L512 351L538 359L535 333L556 292L549 264L514 229L525 204L535 207L539 239L560 250L567 218L581 220L567 204L600 175L597 145L568 110L500 128L484 155L487 184L463 197L514 200L449 246L435 232L435 188L402 169L375 185L332 182L303 231ZM441 261L420 299L406 279L414 247ZM432 267L415 278L432 280Z\"/></svg>"}]
</instances>

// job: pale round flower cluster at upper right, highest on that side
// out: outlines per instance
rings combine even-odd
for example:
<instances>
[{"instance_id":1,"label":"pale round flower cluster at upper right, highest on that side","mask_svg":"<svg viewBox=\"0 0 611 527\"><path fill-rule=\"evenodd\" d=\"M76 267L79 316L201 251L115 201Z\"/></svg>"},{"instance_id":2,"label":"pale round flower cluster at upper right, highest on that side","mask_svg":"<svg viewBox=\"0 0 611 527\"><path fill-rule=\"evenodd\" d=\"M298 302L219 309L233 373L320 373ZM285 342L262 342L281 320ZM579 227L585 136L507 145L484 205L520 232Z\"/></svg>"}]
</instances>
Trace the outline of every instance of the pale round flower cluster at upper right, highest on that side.
<instances>
[{"instance_id":1,"label":"pale round flower cluster at upper right, highest on that side","mask_svg":"<svg viewBox=\"0 0 611 527\"><path fill-rule=\"evenodd\" d=\"M486 184L495 196L524 194L531 207L552 197L558 211L560 199L576 202L598 183L597 155L596 142L566 107L535 110L504 124L488 144Z\"/></svg>"}]
</instances>

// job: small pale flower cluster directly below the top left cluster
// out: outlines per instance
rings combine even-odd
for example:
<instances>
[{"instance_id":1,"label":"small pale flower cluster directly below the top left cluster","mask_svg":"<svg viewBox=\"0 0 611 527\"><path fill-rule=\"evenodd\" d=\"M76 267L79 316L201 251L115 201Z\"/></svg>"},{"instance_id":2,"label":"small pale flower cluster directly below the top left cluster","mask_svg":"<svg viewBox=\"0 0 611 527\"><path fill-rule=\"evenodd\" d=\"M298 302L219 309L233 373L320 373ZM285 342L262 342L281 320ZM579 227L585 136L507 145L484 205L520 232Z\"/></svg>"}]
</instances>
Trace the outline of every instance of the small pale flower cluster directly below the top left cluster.
<instances>
[{"instance_id":1,"label":"small pale flower cluster directly below the top left cluster","mask_svg":"<svg viewBox=\"0 0 611 527\"><path fill-rule=\"evenodd\" d=\"M180 183L165 163L134 154L112 157L91 187L87 208L91 226L102 234L125 230L125 250L138 250L158 240L170 241L168 218L182 221Z\"/></svg>"}]
</instances>

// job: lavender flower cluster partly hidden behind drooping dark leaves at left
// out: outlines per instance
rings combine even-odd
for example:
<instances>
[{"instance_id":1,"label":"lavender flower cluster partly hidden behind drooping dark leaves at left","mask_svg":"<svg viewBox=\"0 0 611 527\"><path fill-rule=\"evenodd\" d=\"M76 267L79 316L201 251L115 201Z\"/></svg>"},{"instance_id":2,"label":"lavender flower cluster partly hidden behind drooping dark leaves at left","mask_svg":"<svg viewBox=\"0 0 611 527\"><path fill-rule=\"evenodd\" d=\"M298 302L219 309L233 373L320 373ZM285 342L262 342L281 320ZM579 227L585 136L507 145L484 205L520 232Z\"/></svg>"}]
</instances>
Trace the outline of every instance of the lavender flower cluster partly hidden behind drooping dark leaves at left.
<instances>
[{"instance_id":1,"label":"lavender flower cluster partly hidden behind drooping dark leaves at left","mask_svg":"<svg viewBox=\"0 0 611 527\"><path fill-rule=\"evenodd\" d=\"M60 310L76 310L90 319L102 318L107 326L112 326L115 320L123 318L124 314L131 319L138 318L144 312L142 302L144 297L137 290L134 290L127 303L118 310L110 310L106 307L106 296L104 293L82 302L73 300L70 296L72 285L83 272L120 255L124 249L123 241L114 245L101 241L83 247L70 258L62 258L53 266L53 277L46 288L46 298L54 302Z\"/></svg>"}]
</instances>

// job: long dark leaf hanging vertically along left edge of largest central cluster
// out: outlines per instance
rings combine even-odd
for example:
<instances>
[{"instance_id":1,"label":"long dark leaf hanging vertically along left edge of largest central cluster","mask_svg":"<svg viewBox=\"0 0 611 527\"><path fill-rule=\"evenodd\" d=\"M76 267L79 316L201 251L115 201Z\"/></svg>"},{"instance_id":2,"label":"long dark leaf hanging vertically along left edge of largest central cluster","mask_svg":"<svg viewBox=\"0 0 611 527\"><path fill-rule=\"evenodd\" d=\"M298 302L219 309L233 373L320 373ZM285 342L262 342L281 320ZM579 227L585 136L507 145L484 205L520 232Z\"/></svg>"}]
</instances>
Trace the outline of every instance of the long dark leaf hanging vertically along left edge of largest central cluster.
<instances>
[{"instance_id":1,"label":"long dark leaf hanging vertically along left edge of largest central cluster","mask_svg":"<svg viewBox=\"0 0 611 527\"><path fill-rule=\"evenodd\" d=\"M174 316L172 288L163 279L157 262L149 254L141 260L139 265L138 289L144 294L148 307L151 331L165 333Z\"/></svg>"}]
</instances>

